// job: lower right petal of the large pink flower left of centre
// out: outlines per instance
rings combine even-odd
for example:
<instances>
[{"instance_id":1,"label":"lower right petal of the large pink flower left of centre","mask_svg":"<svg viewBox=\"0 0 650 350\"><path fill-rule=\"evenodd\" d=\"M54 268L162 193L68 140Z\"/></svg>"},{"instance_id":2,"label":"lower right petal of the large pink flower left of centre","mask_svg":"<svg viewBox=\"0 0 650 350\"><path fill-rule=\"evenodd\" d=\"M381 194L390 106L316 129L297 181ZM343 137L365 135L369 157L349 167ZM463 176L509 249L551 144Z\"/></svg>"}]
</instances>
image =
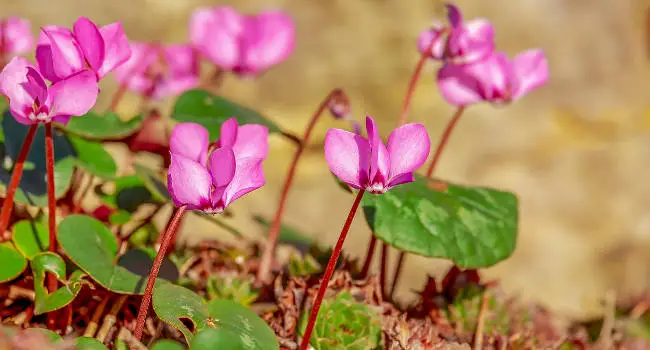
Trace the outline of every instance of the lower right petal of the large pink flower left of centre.
<instances>
[{"instance_id":1,"label":"lower right petal of the large pink flower left of centre","mask_svg":"<svg viewBox=\"0 0 650 350\"><path fill-rule=\"evenodd\" d=\"M223 193L224 208L239 197L264 186L263 161L259 158L237 158L235 174Z\"/></svg>"}]
</instances>

